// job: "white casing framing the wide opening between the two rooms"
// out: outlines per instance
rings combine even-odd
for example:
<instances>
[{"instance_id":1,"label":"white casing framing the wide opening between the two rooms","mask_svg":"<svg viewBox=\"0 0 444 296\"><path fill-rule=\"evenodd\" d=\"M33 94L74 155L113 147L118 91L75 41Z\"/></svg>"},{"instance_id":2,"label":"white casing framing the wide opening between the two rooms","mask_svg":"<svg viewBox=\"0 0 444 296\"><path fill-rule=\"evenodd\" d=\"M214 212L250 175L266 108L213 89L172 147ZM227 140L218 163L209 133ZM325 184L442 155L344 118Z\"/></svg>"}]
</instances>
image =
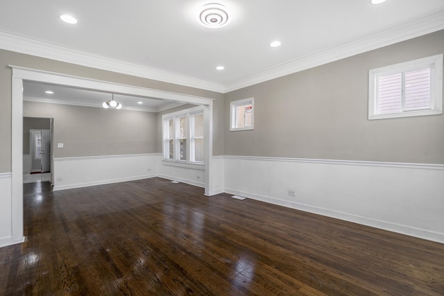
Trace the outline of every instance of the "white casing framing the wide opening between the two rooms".
<instances>
[{"instance_id":1,"label":"white casing framing the wide opening between the two rooms","mask_svg":"<svg viewBox=\"0 0 444 296\"><path fill-rule=\"evenodd\" d=\"M115 82L94 80L91 78L69 76L55 73L8 65L12 68L12 243L24 241L24 208L23 208L23 81L46 82L70 87L94 89L103 92L113 92L135 96L146 96L181 103L203 105L204 107L204 137L205 137L205 195L213 195L212 188L212 151L213 151L213 101L212 98L190 96L157 89L123 85ZM53 172L54 173L54 172Z\"/></svg>"}]
</instances>

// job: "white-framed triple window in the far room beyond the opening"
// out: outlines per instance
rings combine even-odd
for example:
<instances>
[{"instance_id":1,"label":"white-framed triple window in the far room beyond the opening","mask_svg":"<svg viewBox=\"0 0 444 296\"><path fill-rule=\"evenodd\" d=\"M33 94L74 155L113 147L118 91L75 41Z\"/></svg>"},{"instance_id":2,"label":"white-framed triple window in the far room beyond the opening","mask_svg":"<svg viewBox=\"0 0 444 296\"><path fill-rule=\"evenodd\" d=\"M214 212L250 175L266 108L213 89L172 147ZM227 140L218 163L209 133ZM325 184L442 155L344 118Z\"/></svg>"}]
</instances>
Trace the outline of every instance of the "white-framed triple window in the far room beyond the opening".
<instances>
[{"instance_id":1,"label":"white-framed triple window in the far room beyond the opening","mask_svg":"<svg viewBox=\"0 0 444 296\"><path fill-rule=\"evenodd\" d=\"M203 163L203 108L164 114L162 122L164 160Z\"/></svg>"}]
</instances>

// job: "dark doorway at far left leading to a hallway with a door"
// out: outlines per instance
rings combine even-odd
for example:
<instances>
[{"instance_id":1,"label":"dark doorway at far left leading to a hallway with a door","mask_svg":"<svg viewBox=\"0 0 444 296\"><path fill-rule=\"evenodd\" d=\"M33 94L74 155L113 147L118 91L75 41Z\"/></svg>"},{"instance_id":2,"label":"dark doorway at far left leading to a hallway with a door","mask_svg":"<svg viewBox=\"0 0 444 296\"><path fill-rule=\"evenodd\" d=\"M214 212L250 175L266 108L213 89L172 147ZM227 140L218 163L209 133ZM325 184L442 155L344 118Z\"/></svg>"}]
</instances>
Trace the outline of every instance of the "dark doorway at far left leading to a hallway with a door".
<instances>
[{"instance_id":1,"label":"dark doorway at far left leading to a hallway with a door","mask_svg":"<svg viewBox=\"0 0 444 296\"><path fill-rule=\"evenodd\" d=\"M53 120L23 118L23 182L51 182Z\"/></svg>"}]
</instances>

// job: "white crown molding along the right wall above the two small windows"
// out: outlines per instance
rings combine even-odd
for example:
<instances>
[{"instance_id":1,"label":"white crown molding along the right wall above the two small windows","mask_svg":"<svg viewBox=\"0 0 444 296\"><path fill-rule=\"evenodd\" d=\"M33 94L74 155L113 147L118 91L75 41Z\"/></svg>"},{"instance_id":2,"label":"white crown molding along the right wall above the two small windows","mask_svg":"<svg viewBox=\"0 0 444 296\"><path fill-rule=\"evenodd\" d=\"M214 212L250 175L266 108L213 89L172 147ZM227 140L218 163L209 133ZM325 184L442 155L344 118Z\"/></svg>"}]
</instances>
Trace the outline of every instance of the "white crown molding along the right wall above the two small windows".
<instances>
[{"instance_id":1,"label":"white crown molding along the right wall above the two small windows","mask_svg":"<svg viewBox=\"0 0 444 296\"><path fill-rule=\"evenodd\" d=\"M307 55L298 60L281 64L252 76L235 80L225 85L224 93L255 85L271 79L287 76L292 73L321 66L329 62L341 60L366 51L372 51L384 46L409 40L415 37L433 33L444 29L444 10L440 10L427 17L415 19L409 23L393 27L386 31L362 37L359 40L335 46L318 53Z\"/></svg>"}]
</instances>

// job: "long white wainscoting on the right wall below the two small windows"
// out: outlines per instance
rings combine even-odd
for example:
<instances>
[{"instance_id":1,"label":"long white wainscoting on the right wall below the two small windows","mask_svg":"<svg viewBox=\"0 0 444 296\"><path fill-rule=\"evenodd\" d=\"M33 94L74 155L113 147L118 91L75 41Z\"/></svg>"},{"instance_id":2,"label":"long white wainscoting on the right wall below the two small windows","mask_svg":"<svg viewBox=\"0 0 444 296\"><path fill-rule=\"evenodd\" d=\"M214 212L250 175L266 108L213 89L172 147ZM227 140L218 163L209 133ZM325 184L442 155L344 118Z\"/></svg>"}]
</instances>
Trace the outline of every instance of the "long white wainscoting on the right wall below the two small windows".
<instances>
[{"instance_id":1,"label":"long white wainscoting on the right wall below the two small windows","mask_svg":"<svg viewBox=\"0 0 444 296\"><path fill-rule=\"evenodd\" d=\"M227 193L444 243L443 165L225 156L224 168Z\"/></svg>"}]
</instances>

